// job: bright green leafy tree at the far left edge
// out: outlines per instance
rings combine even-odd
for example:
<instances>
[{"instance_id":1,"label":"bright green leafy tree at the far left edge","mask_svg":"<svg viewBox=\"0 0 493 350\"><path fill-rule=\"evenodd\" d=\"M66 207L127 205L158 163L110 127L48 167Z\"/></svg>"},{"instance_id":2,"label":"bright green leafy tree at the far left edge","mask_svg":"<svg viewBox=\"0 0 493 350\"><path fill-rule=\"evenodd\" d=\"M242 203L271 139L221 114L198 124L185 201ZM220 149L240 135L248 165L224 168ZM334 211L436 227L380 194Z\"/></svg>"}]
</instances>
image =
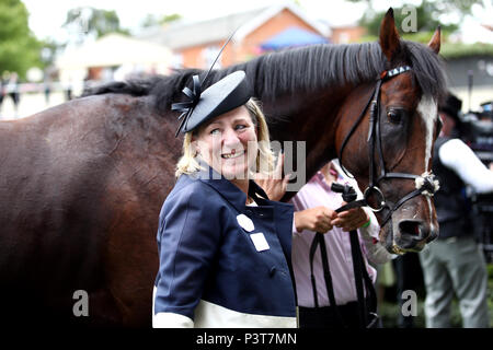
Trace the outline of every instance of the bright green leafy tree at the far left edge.
<instances>
[{"instance_id":1,"label":"bright green leafy tree at the far left edge","mask_svg":"<svg viewBox=\"0 0 493 350\"><path fill-rule=\"evenodd\" d=\"M41 66L41 43L27 25L28 13L21 0L0 0L0 74Z\"/></svg>"}]
</instances>

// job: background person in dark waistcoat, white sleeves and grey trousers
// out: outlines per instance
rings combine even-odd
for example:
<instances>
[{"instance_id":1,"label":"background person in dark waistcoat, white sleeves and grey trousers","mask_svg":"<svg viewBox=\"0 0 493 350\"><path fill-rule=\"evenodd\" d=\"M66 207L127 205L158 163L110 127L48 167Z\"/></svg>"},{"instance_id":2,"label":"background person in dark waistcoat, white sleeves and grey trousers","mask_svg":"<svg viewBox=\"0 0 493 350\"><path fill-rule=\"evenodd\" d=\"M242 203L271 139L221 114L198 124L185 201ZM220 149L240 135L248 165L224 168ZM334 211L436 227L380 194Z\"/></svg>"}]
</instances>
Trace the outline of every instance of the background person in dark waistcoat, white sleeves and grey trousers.
<instances>
[{"instance_id":1,"label":"background person in dark waistcoat, white sleeves and grey trousers","mask_svg":"<svg viewBox=\"0 0 493 350\"><path fill-rule=\"evenodd\" d=\"M426 327L450 327L454 295L465 328L489 327L488 275L483 253L474 240L466 186L477 194L493 191L491 172L459 139L462 102L452 94L439 106L443 128L434 147L433 173L440 182L435 194L438 238L420 253L426 289Z\"/></svg>"}]
</instances>

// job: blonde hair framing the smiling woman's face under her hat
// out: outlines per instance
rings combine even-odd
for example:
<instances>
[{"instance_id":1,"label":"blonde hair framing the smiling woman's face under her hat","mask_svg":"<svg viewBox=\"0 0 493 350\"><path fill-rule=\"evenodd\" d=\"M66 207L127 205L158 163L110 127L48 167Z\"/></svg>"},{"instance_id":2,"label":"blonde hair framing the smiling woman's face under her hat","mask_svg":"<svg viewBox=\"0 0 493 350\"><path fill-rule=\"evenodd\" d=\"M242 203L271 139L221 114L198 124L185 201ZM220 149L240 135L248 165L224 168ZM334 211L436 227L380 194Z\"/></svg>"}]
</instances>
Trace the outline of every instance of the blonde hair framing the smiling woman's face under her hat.
<instances>
[{"instance_id":1,"label":"blonde hair framing the smiling woman's face under her hat","mask_svg":"<svg viewBox=\"0 0 493 350\"><path fill-rule=\"evenodd\" d=\"M252 118L253 125L256 128L256 140L259 144L259 154L256 155L256 168L259 173L267 175L274 171L274 153L271 150L271 139L268 135L267 122L265 121L265 116L260 108L259 103L250 98L244 106L249 110L250 117ZM185 133L183 139L183 155L176 164L176 172L174 175L180 177L182 174L192 174L198 171L204 171L204 168L198 164L197 151L192 144L192 137L196 131L191 131Z\"/></svg>"}]
</instances>

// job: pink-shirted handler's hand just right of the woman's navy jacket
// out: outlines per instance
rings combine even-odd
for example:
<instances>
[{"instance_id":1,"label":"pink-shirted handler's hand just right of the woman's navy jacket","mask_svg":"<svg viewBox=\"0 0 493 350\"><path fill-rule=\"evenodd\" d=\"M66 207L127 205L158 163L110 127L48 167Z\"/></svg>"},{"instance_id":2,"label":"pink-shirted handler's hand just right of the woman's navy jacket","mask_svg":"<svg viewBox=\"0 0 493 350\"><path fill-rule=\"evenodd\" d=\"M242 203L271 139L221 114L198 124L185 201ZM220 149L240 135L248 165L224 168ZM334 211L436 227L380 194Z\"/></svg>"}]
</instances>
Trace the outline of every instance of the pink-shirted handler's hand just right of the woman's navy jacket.
<instances>
[{"instance_id":1,"label":"pink-shirted handler's hand just right of the woman's navy jacket","mask_svg":"<svg viewBox=\"0 0 493 350\"><path fill-rule=\"evenodd\" d=\"M331 220L337 218L337 213L326 207L316 207L295 212L296 231L309 230L325 233L332 230Z\"/></svg>"}]
</instances>

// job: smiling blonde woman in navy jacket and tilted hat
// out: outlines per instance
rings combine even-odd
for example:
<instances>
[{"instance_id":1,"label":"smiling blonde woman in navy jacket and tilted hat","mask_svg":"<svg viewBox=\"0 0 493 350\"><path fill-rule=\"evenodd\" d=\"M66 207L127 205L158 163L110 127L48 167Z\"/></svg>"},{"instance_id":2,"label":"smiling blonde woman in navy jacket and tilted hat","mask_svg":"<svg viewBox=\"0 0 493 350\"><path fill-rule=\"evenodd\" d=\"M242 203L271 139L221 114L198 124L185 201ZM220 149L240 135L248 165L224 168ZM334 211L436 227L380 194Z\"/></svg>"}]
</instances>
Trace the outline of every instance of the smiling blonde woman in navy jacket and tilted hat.
<instances>
[{"instance_id":1,"label":"smiling blonde woman in navy jacket and tilted hat","mask_svg":"<svg viewBox=\"0 0 493 350\"><path fill-rule=\"evenodd\" d=\"M293 206L251 179L273 155L250 97L238 71L185 113L177 182L159 220L153 327L296 327Z\"/></svg>"}]
</instances>

